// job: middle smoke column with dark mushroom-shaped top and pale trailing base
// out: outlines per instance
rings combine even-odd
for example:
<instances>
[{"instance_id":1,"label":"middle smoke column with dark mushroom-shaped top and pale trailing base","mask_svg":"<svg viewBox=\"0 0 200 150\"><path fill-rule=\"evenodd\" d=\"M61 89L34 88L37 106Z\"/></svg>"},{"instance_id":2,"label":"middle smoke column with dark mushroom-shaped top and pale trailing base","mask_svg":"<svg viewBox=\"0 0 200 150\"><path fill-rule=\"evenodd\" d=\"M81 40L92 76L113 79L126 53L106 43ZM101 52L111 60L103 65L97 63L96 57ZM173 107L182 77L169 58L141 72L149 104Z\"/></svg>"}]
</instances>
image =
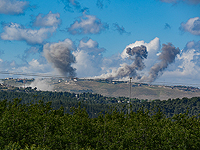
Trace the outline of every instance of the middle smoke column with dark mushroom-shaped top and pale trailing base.
<instances>
[{"instance_id":1,"label":"middle smoke column with dark mushroom-shaped top and pale trailing base","mask_svg":"<svg viewBox=\"0 0 200 150\"><path fill-rule=\"evenodd\" d=\"M147 49L144 45L137 46L134 48L127 48L126 53L129 54L129 58L133 59L133 63L131 65L128 64L121 64L121 67L119 67L117 70L113 70L112 73L103 74L100 76L100 78L106 78L113 80L114 78L123 78L123 77L133 77L136 79L140 79L140 76L137 75L136 70L142 70L144 69L145 65L143 63L143 59L147 58ZM132 58L131 56L134 56Z\"/></svg>"}]
</instances>

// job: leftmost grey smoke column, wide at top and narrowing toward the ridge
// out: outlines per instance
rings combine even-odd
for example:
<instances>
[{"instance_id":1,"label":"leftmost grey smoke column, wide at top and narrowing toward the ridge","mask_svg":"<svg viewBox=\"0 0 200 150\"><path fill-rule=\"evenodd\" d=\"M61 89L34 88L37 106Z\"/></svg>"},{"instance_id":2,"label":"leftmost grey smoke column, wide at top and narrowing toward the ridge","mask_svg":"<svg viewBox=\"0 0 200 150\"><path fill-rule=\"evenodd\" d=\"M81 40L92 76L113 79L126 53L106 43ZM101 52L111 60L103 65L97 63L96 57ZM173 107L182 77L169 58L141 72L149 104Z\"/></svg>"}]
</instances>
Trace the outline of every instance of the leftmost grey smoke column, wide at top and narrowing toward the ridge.
<instances>
[{"instance_id":1,"label":"leftmost grey smoke column, wide at top and narrowing toward the ridge","mask_svg":"<svg viewBox=\"0 0 200 150\"><path fill-rule=\"evenodd\" d=\"M71 51L74 50L73 47L73 42L70 39L44 45L43 51L45 58L63 76L75 76L76 69L71 67L71 64L75 63L75 57L71 53Z\"/></svg>"}]
</instances>

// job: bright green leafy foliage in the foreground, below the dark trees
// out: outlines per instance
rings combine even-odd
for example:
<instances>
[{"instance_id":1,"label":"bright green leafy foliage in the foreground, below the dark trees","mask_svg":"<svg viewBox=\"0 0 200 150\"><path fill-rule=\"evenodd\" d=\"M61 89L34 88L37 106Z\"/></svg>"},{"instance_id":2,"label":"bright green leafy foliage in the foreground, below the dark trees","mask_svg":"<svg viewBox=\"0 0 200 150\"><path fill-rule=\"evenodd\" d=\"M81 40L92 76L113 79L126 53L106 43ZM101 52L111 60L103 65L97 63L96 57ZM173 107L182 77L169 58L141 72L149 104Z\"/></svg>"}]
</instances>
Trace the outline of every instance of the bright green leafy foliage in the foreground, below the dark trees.
<instances>
[{"instance_id":1,"label":"bright green leafy foliage in the foreground, below the dark trees","mask_svg":"<svg viewBox=\"0 0 200 150\"><path fill-rule=\"evenodd\" d=\"M53 110L51 102L0 101L0 149L199 149L200 119L168 117L159 107L117 108L90 118L86 109Z\"/></svg>"}]
</instances>

